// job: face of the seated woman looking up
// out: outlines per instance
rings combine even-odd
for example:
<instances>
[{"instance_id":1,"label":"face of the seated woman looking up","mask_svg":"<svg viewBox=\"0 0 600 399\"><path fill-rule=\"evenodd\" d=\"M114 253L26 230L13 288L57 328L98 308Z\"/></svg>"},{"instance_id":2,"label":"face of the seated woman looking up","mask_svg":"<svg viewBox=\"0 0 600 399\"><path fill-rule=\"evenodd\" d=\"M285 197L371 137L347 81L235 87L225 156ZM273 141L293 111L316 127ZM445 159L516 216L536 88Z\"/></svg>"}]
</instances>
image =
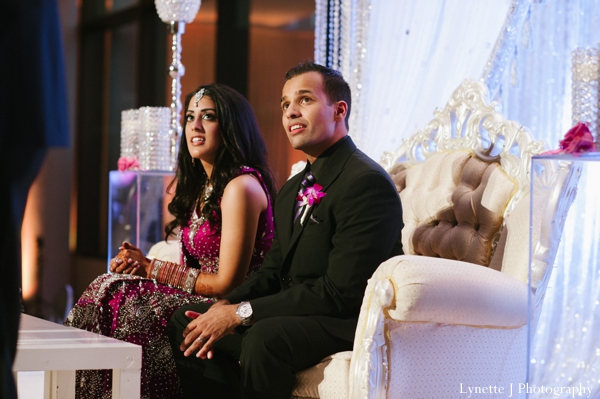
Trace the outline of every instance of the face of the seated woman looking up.
<instances>
[{"instance_id":1,"label":"face of the seated woman looking up","mask_svg":"<svg viewBox=\"0 0 600 399\"><path fill-rule=\"evenodd\" d=\"M185 137L190 155L202 162L214 164L221 146L215 103L205 95L196 104L192 97L185 119Z\"/></svg>"}]
</instances>

